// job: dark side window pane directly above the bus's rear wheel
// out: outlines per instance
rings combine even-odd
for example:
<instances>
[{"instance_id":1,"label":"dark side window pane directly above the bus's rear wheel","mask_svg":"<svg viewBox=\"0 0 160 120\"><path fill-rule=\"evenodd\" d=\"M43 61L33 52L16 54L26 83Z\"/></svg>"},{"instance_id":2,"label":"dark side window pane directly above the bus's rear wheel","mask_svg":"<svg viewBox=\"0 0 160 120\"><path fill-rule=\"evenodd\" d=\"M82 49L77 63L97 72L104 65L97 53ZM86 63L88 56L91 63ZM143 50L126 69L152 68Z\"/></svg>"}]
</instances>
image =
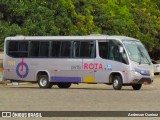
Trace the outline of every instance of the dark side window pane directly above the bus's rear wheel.
<instances>
[{"instance_id":1,"label":"dark side window pane directly above the bus's rear wheel","mask_svg":"<svg viewBox=\"0 0 160 120\"><path fill-rule=\"evenodd\" d=\"M49 54L49 42L40 42L40 57L48 57Z\"/></svg>"}]
</instances>

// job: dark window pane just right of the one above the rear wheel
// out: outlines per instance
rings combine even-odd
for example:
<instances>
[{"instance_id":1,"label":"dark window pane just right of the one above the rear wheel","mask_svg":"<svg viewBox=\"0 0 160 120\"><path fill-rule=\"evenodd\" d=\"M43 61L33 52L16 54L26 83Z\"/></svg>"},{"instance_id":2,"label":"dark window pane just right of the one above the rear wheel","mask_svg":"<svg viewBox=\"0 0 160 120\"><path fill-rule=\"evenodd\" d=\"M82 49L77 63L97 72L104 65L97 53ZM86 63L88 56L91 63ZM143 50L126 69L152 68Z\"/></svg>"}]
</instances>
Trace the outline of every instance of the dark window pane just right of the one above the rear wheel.
<instances>
[{"instance_id":1,"label":"dark window pane just right of the one above the rear wheel","mask_svg":"<svg viewBox=\"0 0 160 120\"><path fill-rule=\"evenodd\" d=\"M60 48L61 48L61 42L53 41L51 45L51 56L60 57Z\"/></svg>"}]
</instances>

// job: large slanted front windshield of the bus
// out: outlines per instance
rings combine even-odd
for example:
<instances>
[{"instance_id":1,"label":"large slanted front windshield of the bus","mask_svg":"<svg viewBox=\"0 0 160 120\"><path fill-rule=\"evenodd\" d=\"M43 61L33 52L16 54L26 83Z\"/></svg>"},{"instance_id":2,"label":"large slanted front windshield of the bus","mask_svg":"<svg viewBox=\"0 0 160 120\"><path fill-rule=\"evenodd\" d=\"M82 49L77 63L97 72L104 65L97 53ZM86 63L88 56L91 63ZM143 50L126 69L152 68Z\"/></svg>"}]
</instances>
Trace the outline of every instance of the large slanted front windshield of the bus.
<instances>
[{"instance_id":1,"label":"large slanted front windshield of the bus","mask_svg":"<svg viewBox=\"0 0 160 120\"><path fill-rule=\"evenodd\" d=\"M151 60L145 47L140 41L123 40L128 51L129 58L139 64L150 64Z\"/></svg>"}]
</instances>

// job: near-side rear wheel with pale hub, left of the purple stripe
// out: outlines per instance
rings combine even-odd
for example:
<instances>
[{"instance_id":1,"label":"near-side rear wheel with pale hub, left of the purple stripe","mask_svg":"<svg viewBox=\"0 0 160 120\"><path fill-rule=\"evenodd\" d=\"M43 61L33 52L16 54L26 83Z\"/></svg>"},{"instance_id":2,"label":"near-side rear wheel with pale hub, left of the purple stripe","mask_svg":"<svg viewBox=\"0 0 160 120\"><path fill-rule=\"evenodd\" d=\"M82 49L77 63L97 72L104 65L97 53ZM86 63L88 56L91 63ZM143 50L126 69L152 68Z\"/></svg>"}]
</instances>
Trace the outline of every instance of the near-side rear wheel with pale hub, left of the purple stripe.
<instances>
[{"instance_id":1,"label":"near-side rear wheel with pale hub, left of the purple stripe","mask_svg":"<svg viewBox=\"0 0 160 120\"><path fill-rule=\"evenodd\" d=\"M53 84L49 82L47 75L40 75L38 77L38 85L40 88L51 88L53 86Z\"/></svg>"}]
</instances>

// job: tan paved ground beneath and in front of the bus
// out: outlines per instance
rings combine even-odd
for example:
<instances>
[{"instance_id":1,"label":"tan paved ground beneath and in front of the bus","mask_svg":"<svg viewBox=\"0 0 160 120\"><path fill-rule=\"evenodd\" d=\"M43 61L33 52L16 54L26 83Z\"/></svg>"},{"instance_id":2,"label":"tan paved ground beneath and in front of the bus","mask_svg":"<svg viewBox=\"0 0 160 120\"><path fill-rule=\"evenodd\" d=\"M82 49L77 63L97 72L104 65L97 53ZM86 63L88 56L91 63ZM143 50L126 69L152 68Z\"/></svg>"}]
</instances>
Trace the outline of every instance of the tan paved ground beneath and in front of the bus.
<instances>
[{"instance_id":1,"label":"tan paved ground beneath and in front of the bus","mask_svg":"<svg viewBox=\"0 0 160 120\"><path fill-rule=\"evenodd\" d=\"M37 84L0 85L0 111L160 111L160 77L140 91L104 84L40 89Z\"/></svg>"}]
</instances>

